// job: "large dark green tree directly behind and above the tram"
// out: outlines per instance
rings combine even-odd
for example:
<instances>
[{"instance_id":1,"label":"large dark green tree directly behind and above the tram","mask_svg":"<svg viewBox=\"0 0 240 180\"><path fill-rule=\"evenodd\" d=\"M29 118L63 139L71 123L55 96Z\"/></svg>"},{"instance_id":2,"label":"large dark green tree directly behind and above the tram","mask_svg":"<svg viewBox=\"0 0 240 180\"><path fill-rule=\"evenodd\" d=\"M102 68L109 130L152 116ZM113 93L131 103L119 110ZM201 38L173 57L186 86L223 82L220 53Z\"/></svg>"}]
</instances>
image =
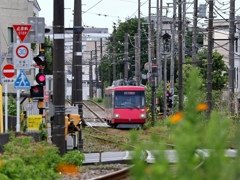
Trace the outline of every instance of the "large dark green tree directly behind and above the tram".
<instances>
[{"instance_id":1,"label":"large dark green tree directly behind and above the tram","mask_svg":"<svg viewBox=\"0 0 240 180\"><path fill-rule=\"evenodd\" d=\"M148 32L147 28L147 22L145 19L141 18L141 67L140 70L142 73L145 73L143 71L144 64L148 61ZM116 49L116 78L120 79L123 77L124 74L124 34L129 34L129 52L128 52L128 62L129 67L135 64L135 41L134 36L138 31L138 19L131 18L127 19L125 22L119 21L117 26L114 24L114 31L108 38L108 44L106 50L108 51L108 54L106 54L103 58L103 61L101 62L99 66L99 70L103 72L102 76L104 77L104 81L108 82L110 85L112 82L113 77L113 47L115 46ZM115 44L114 44L115 42ZM134 77L134 69L129 69L128 71L128 77Z\"/></svg>"}]
</instances>

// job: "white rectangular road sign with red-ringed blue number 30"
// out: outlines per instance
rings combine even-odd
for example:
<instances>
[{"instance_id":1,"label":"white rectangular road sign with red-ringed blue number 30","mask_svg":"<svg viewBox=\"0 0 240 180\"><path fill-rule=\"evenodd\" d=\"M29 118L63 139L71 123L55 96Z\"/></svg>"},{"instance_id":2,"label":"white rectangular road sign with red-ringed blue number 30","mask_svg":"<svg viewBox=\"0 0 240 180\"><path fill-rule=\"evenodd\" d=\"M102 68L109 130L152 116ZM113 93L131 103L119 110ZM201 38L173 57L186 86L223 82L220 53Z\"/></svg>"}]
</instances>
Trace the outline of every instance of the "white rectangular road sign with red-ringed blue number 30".
<instances>
[{"instance_id":1,"label":"white rectangular road sign with red-ringed blue number 30","mask_svg":"<svg viewBox=\"0 0 240 180\"><path fill-rule=\"evenodd\" d=\"M13 44L13 65L15 69L30 69L32 64L31 44Z\"/></svg>"}]
</instances>

